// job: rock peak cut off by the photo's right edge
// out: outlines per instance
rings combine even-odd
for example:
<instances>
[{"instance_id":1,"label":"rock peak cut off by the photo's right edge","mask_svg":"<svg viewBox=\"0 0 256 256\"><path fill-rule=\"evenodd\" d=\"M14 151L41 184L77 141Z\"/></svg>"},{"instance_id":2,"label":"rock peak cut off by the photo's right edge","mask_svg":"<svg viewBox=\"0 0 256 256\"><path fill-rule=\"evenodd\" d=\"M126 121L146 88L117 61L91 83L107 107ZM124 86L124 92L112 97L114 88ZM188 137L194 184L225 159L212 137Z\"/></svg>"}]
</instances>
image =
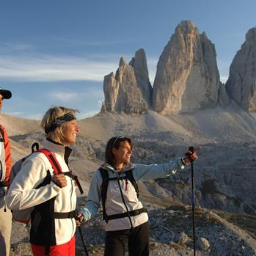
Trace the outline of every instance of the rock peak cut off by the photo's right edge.
<instances>
[{"instance_id":1,"label":"rock peak cut off by the photo's right edge","mask_svg":"<svg viewBox=\"0 0 256 256\"><path fill-rule=\"evenodd\" d=\"M227 93L246 111L256 110L256 28L249 29L246 41L230 65Z\"/></svg>"}]
</instances>

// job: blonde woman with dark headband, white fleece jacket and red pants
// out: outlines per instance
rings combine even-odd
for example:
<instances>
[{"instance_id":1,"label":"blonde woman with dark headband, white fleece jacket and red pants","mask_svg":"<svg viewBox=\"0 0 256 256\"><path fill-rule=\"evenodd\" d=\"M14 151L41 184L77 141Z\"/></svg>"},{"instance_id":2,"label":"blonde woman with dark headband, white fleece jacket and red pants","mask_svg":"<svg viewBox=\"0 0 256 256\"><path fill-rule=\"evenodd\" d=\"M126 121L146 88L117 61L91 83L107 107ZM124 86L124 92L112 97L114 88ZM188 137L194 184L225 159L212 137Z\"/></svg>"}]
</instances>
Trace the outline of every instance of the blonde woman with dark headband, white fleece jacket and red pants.
<instances>
[{"instance_id":1,"label":"blonde woman with dark headband, white fleece jacket and red pants","mask_svg":"<svg viewBox=\"0 0 256 256\"><path fill-rule=\"evenodd\" d=\"M54 168L45 153L26 158L12 180L7 205L12 210L34 208L31 213L29 241L35 256L74 256L76 232L76 191L68 167L70 145L76 142L76 110L54 106L45 113L41 126L46 139L43 149L63 173Z\"/></svg>"}]
</instances>

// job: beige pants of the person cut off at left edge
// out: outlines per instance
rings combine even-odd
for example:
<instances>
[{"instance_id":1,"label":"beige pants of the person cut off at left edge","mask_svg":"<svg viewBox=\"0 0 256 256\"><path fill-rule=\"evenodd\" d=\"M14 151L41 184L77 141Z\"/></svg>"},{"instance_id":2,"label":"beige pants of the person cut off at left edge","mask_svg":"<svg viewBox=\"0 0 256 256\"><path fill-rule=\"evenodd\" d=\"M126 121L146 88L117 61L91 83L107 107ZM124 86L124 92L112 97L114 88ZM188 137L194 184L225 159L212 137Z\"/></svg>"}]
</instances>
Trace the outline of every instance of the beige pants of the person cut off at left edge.
<instances>
[{"instance_id":1,"label":"beige pants of the person cut off at left edge","mask_svg":"<svg viewBox=\"0 0 256 256\"><path fill-rule=\"evenodd\" d=\"M4 197L0 198L0 255L9 256L10 253L10 238L12 230L12 213L5 208Z\"/></svg>"}]
</instances>

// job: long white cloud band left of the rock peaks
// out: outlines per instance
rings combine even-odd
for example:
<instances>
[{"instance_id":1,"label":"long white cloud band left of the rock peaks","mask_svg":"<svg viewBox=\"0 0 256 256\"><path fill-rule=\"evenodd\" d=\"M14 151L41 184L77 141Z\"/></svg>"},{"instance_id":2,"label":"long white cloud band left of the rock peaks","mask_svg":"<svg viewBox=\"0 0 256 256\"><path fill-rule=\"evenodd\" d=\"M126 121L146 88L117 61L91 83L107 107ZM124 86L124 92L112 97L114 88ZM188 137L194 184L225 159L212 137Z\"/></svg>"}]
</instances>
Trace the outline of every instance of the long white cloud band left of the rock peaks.
<instances>
[{"instance_id":1,"label":"long white cloud band left of the rock peaks","mask_svg":"<svg viewBox=\"0 0 256 256\"><path fill-rule=\"evenodd\" d=\"M116 62L73 56L0 56L0 78L10 81L103 81Z\"/></svg>"}]
</instances>

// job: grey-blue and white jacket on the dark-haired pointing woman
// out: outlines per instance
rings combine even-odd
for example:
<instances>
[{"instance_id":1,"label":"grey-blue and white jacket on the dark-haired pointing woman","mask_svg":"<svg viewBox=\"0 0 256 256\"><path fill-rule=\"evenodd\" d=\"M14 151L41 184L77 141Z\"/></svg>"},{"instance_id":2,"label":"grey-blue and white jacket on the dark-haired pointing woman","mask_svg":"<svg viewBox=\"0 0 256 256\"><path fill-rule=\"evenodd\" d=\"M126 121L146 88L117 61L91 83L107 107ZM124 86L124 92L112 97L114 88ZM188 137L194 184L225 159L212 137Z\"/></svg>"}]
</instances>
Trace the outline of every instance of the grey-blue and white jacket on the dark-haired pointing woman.
<instances>
[{"instance_id":1,"label":"grey-blue and white jacket on the dark-haired pointing woman","mask_svg":"<svg viewBox=\"0 0 256 256\"><path fill-rule=\"evenodd\" d=\"M103 169L107 169L109 172L109 178L116 178L118 170L115 170L109 164L104 164L101 166ZM125 175L129 169L133 169L134 179L138 180L153 180L156 178L165 178L169 175L175 174L179 169L183 169L183 161L181 158L177 158L175 161L169 161L165 164L128 164L128 167L122 170L120 177ZM98 212L101 200L101 183L103 179L100 174L99 169L95 171L92 176L92 180L89 186L88 201L84 208L80 210L80 213L84 215L84 220L89 220L92 216ZM120 182L120 187L122 189L122 195L125 203L122 201L120 188L117 182ZM134 211L143 208L142 202L136 197L136 191L134 186L129 180L109 180L109 186L107 189L106 196L106 214L108 216L125 213L128 211ZM129 219L131 218L131 220ZM114 230L126 230L132 227L137 227L140 224L147 222L147 213L140 213L136 216L124 217L121 219L110 219L106 224L106 231Z\"/></svg>"}]
</instances>

